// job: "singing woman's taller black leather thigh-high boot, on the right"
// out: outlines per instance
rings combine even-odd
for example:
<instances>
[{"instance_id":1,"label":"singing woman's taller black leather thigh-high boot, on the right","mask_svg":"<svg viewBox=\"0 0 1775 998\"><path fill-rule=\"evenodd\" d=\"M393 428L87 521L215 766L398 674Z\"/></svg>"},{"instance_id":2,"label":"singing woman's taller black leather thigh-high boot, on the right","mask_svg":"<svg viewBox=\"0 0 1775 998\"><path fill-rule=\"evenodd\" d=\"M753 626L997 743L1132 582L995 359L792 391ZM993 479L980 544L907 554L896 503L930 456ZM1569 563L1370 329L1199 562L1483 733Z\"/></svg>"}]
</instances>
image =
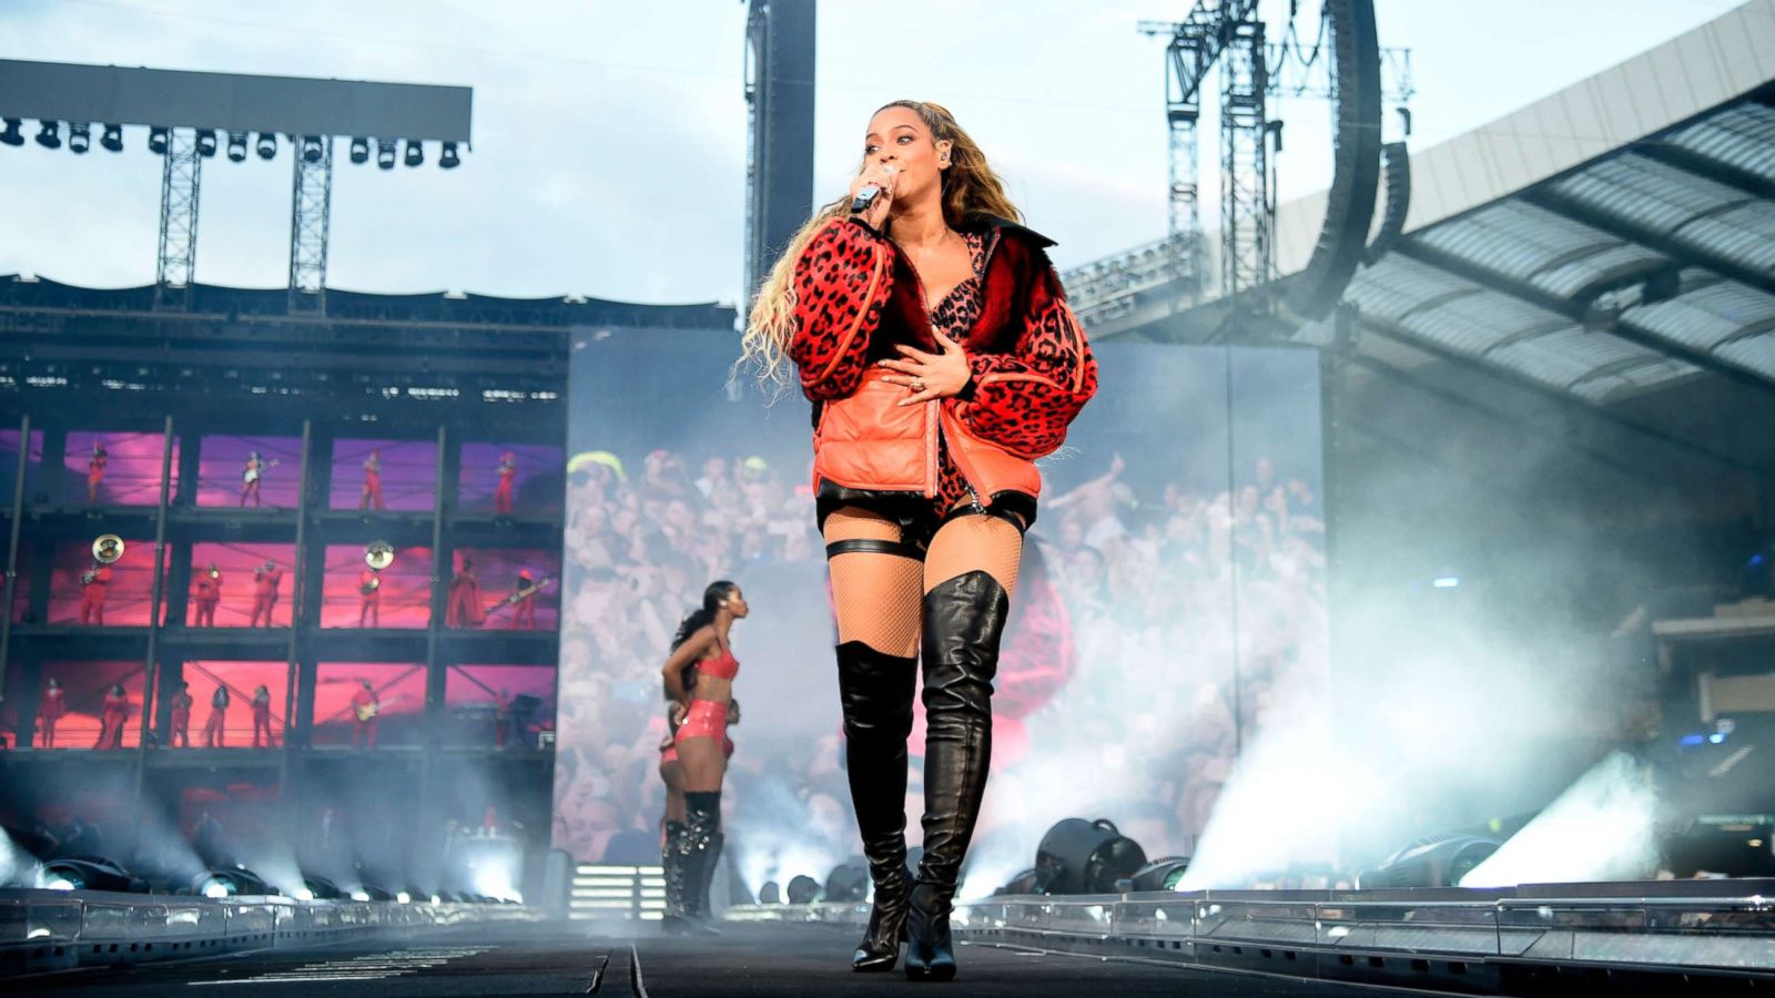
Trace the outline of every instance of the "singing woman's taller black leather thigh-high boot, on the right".
<instances>
[{"instance_id":1,"label":"singing woman's taller black leather thigh-high boot, on the right","mask_svg":"<svg viewBox=\"0 0 1775 998\"><path fill-rule=\"evenodd\" d=\"M950 907L992 762L992 677L1010 595L987 572L925 593L925 856L907 913L905 975L955 977Z\"/></svg>"}]
</instances>

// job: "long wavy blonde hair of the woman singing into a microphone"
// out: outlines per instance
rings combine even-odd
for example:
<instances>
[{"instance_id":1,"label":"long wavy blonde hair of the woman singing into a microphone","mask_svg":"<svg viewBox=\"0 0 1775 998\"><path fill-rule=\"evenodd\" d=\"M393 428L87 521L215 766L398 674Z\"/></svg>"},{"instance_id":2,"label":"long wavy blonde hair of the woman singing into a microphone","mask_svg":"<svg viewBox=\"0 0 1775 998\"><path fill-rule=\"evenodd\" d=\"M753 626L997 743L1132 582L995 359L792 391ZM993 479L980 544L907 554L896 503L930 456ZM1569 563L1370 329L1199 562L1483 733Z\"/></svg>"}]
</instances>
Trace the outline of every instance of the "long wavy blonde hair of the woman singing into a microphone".
<instances>
[{"instance_id":1,"label":"long wavy blonde hair of the woman singing into a microphone","mask_svg":"<svg viewBox=\"0 0 1775 998\"><path fill-rule=\"evenodd\" d=\"M930 130L932 144L950 142L950 169L939 176L943 178L943 220L951 229L960 229L971 218L982 215L1022 222L1022 211L1005 194L1005 181L992 172L987 154L962 131L950 108L932 101L891 101L875 108L875 114L891 107L911 108L918 114L925 128ZM864 162L857 163L859 174L863 172L863 165ZM813 242L813 234L827 220L848 213L848 194L822 204L808 218L808 224L795 233L795 238L788 242L783 256L770 268L770 277L765 279L758 289L758 297L753 298L746 332L740 336L740 360L737 366L753 368L760 382L776 384L777 387L790 384L788 373L792 364L785 352L788 350L790 337L795 336L795 261L801 259L808 243Z\"/></svg>"}]
</instances>

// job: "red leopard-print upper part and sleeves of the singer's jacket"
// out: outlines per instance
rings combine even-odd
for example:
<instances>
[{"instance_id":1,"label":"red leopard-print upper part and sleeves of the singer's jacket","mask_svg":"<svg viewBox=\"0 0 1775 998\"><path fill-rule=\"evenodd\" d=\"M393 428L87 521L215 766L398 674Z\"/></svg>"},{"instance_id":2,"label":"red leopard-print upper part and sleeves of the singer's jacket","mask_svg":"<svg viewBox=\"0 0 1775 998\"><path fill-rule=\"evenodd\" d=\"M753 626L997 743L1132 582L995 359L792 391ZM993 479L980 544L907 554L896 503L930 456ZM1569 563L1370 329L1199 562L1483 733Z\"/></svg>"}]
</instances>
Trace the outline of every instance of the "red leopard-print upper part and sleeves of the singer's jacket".
<instances>
[{"instance_id":1,"label":"red leopard-print upper part and sleeves of the singer's jacket","mask_svg":"<svg viewBox=\"0 0 1775 998\"><path fill-rule=\"evenodd\" d=\"M1097 360L1044 252L1054 243L1003 218L978 227L989 247L983 302L960 339L973 380L944 405L976 437L1033 460L1065 442L1097 392ZM795 261L788 355L802 391L815 403L848 396L870 364L898 357L896 343L937 350L912 265L863 222L827 222Z\"/></svg>"}]
</instances>

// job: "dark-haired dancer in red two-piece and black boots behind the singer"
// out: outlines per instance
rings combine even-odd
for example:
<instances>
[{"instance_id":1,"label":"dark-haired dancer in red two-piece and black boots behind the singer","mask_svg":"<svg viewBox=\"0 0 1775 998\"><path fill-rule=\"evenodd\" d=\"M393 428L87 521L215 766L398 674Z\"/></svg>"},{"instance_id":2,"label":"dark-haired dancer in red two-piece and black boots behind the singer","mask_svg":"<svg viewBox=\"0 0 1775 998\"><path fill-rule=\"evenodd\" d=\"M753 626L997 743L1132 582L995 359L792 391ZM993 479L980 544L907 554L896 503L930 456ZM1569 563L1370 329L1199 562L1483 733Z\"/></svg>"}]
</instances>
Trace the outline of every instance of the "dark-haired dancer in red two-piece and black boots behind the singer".
<instances>
[{"instance_id":1,"label":"dark-haired dancer in red two-piece and black boots behind the singer","mask_svg":"<svg viewBox=\"0 0 1775 998\"><path fill-rule=\"evenodd\" d=\"M728 733L728 703L740 662L733 657L728 632L744 620L749 607L733 582L710 582L703 606L678 625L671 657L660 669L666 696L678 707L682 723L674 744L683 767L683 829L678 835L678 863L683 877L683 922L673 925L714 934L708 918L708 883L726 840L721 835L721 778L728 769L722 739ZM694 689L692 689L694 687Z\"/></svg>"}]
</instances>

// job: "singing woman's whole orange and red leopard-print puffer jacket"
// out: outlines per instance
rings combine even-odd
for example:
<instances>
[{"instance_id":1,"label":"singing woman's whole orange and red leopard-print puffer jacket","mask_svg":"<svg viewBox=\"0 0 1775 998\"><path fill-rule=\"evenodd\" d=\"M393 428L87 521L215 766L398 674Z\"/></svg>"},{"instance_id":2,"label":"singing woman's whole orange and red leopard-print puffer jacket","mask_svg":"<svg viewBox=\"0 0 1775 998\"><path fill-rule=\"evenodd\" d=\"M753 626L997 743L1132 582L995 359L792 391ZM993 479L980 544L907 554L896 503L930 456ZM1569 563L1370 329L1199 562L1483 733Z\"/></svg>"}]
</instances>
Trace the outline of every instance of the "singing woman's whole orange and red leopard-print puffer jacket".
<instances>
[{"instance_id":1,"label":"singing woman's whole orange and red leopard-print puffer jacket","mask_svg":"<svg viewBox=\"0 0 1775 998\"><path fill-rule=\"evenodd\" d=\"M937 453L950 448L983 504L1003 492L1038 495L1035 458L1067 439L1097 392L1097 360L1049 263L1053 240L982 217L982 309L966 337L973 378L957 398L895 405L875 360L895 345L935 352L925 289L911 261L856 218L827 222L795 261L795 336L788 355L815 401L815 488L937 494Z\"/></svg>"}]
</instances>

